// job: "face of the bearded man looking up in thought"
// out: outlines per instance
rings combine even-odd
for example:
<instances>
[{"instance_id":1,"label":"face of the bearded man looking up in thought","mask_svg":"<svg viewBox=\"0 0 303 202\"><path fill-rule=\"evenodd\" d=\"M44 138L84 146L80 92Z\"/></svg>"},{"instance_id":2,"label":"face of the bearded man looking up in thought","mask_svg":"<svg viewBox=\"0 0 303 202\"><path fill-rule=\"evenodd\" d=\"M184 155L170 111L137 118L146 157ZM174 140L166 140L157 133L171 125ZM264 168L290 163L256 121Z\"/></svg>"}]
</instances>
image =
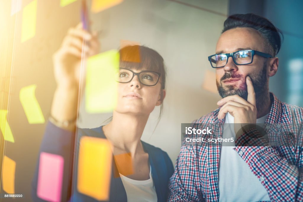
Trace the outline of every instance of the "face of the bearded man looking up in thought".
<instances>
[{"instance_id":1,"label":"face of the bearded man looking up in thought","mask_svg":"<svg viewBox=\"0 0 303 202\"><path fill-rule=\"evenodd\" d=\"M222 33L216 46L216 54L239 50L267 52L264 39L255 29L235 28ZM246 76L251 78L256 95L265 92L268 89L266 62L264 57L255 55L251 64L236 65L229 57L224 67L216 69L216 82L220 96L224 98L239 95L247 99Z\"/></svg>"}]
</instances>

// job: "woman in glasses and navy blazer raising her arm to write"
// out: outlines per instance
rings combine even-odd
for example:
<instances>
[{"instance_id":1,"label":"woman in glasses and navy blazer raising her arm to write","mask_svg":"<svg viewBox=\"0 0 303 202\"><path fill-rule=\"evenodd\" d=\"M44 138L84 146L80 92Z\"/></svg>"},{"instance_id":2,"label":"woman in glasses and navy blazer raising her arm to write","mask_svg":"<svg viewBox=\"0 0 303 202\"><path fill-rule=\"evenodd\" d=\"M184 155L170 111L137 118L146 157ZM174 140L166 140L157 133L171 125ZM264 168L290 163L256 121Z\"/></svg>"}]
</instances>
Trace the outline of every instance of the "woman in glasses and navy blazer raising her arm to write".
<instances>
[{"instance_id":1,"label":"woman in glasses and navy blazer raising her arm to write","mask_svg":"<svg viewBox=\"0 0 303 202\"><path fill-rule=\"evenodd\" d=\"M73 162L72 142L75 141L83 40L87 44L84 48L86 57L98 53L96 33L90 34L79 24L68 31L62 47L54 54L57 89L40 151L60 155L65 160L61 201L96 201L79 193L75 188L78 150ZM138 54L140 62L128 62L138 59ZM171 160L166 152L140 140L149 114L155 106L162 105L165 98L163 58L156 51L144 46L124 47L120 50L117 81L118 102L110 123L95 129L78 129L78 138L106 138L112 145L114 156L123 153L130 155L133 172L128 176L124 176L123 169L120 169L120 177L114 177L115 169L123 167L124 163L124 160L119 162L114 158L110 201L165 201L168 180L173 173ZM72 175L73 164L75 170ZM38 165L32 196L35 201L43 201L37 196Z\"/></svg>"}]
</instances>

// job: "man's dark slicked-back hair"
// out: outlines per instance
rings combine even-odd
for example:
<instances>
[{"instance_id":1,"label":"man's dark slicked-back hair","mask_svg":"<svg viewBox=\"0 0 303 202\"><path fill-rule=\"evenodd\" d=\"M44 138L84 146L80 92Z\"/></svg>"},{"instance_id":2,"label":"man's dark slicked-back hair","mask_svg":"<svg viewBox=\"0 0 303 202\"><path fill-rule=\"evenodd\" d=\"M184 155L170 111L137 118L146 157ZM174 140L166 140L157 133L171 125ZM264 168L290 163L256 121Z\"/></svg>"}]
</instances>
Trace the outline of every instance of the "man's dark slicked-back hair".
<instances>
[{"instance_id":1,"label":"man's dark slicked-back hair","mask_svg":"<svg viewBox=\"0 0 303 202\"><path fill-rule=\"evenodd\" d=\"M261 33L265 39L268 53L275 57L281 48L281 37L283 33L276 28L268 19L253 13L235 14L229 16L224 22L222 33L234 28L252 28Z\"/></svg>"}]
</instances>

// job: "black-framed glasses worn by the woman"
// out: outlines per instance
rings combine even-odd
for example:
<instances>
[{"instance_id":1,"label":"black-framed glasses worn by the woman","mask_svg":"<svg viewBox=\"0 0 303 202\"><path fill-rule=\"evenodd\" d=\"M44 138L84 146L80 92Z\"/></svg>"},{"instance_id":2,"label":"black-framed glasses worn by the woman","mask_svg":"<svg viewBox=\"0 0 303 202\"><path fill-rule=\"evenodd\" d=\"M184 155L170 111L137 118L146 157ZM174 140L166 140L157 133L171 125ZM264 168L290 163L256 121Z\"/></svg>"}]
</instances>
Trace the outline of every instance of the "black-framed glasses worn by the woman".
<instances>
[{"instance_id":1,"label":"black-framed glasses worn by the woman","mask_svg":"<svg viewBox=\"0 0 303 202\"><path fill-rule=\"evenodd\" d=\"M120 83L128 83L131 82L136 75L138 76L139 82L145 86L155 86L161 76L159 72L154 71L142 71L136 73L130 69L120 68L117 73L116 81Z\"/></svg>"}]
</instances>

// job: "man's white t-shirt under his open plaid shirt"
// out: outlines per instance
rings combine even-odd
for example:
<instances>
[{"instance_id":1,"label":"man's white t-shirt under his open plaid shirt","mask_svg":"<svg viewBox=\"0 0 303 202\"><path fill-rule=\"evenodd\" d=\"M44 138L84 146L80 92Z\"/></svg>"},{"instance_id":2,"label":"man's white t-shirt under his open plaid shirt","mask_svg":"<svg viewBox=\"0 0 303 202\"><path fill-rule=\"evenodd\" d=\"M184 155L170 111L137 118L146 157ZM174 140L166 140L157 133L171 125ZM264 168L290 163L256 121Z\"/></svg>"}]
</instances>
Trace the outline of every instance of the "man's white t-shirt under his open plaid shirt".
<instances>
[{"instance_id":1,"label":"man's white t-shirt under his open plaid shirt","mask_svg":"<svg viewBox=\"0 0 303 202\"><path fill-rule=\"evenodd\" d=\"M268 114L257 119L257 123L265 123ZM230 113L225 116L223 138L235 138L233 128L234 117ZM266 189L257 176L252 173L245 161L233 150L235 142L222 142L219 164L219 202L227 201L270 201Z\"/></svg>"}]
</instances>

